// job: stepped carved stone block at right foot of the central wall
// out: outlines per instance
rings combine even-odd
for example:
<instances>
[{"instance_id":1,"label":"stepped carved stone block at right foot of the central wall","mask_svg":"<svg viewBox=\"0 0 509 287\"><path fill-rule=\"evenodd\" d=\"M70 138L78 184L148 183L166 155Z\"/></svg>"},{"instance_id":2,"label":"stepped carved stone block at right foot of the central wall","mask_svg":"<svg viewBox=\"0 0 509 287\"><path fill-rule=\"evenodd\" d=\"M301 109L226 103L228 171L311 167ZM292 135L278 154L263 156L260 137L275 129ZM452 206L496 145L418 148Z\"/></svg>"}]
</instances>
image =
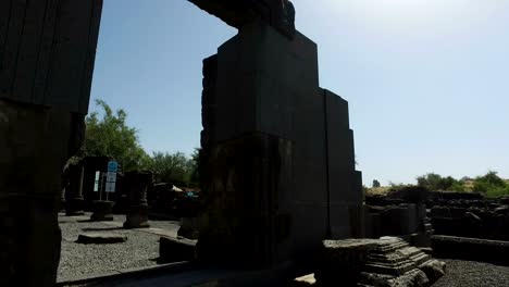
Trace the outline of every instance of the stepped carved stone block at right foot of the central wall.
<instances>
[{"instance_id":1,"label":"stepped carved stone block at right foot of the central wall","mask_svg":"<svg viewBox=\"0 0 509 287\"><path fill-rule=\"evenodd\" d=\"M397 237L324 240L319 286L431 286L445 263Z\"/></svg>"}]
</instances>

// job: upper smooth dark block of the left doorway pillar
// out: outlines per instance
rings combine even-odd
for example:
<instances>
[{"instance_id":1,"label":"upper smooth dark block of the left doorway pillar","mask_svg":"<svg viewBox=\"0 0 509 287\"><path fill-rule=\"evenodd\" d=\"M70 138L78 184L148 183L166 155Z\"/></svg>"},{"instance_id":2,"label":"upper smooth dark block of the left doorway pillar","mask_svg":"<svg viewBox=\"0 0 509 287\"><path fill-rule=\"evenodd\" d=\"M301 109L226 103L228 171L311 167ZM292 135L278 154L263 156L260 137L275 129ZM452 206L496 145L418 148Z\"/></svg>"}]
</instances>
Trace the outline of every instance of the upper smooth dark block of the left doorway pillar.
<instances>
[{"instance_id":1,"label":"upper smooth dark block of the left doorway pillar","mask_svg":"<svg viewBox=\"0 0 509 287\"><path fill-rule=\"evenodd\" d=\"M101 9L102 0L0 1L0 99L86 114Z\"/></svg>"}]
</instances>

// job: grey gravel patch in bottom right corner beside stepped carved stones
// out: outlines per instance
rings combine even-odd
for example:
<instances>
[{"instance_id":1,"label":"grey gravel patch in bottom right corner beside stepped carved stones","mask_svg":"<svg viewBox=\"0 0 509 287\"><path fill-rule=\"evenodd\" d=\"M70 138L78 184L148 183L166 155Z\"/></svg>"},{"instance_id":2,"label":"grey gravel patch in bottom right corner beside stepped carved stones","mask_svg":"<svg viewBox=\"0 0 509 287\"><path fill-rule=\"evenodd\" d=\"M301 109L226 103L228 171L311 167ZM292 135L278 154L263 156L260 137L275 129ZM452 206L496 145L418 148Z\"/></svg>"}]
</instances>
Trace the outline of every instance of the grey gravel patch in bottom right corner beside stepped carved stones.
<instances>
[{"instance_id":1,"label":"grey gravel patch in bottom right corner beside stepped carved stones","mask_svg":"<svg viewBox=\"0 0 509 287\"><path fill-rule=\"evenodd\" d=\"M442 260L442 259L440 259ZM446 275L433 287L508 287L509 266L445 259Z\"/></svg>"}]
</instances>

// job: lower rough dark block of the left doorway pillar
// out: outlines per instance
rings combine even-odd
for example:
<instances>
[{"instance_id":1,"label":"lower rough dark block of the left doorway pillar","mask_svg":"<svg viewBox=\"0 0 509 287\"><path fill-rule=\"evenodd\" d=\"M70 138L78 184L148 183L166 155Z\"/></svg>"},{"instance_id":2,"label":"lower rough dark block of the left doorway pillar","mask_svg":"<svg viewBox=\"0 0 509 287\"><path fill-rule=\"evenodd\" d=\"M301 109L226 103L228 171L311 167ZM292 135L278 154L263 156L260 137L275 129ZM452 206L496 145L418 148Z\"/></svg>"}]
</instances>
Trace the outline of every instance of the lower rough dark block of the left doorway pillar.
<instances>
[{"instance_id":1,"label":"lower rough dark block of the left doorway pillar","mask_svg":"<svg viewBox=\"0 0 509 287\"><path fill-rule=\"evenodd\" d=\"M83 115L0 99L0 286L53 286L65 161Z\"/></svg>"}]
</instances>

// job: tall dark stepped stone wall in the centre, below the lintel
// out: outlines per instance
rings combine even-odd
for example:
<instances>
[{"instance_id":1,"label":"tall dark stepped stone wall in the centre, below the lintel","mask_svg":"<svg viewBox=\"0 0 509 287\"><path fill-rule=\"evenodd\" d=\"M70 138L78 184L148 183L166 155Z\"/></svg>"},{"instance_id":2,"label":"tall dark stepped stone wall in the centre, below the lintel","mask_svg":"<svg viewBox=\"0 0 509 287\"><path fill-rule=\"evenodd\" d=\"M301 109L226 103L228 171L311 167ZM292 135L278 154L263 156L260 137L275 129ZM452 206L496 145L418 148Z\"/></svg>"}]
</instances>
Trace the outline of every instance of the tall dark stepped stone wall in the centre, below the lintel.
<instances>
[{"instance_id":1,"label":"tall dark stepped stone wall in the centre, below the lintel","mask_svg":"<svg viewBox=\"0 0 509 287\"><path fill-rule=\"evenodd\" d=\"M204 61L200 259L266 267L361 234L348 103L319 87L316 50L253 22Z\"/></svg>"}]
</instances>

